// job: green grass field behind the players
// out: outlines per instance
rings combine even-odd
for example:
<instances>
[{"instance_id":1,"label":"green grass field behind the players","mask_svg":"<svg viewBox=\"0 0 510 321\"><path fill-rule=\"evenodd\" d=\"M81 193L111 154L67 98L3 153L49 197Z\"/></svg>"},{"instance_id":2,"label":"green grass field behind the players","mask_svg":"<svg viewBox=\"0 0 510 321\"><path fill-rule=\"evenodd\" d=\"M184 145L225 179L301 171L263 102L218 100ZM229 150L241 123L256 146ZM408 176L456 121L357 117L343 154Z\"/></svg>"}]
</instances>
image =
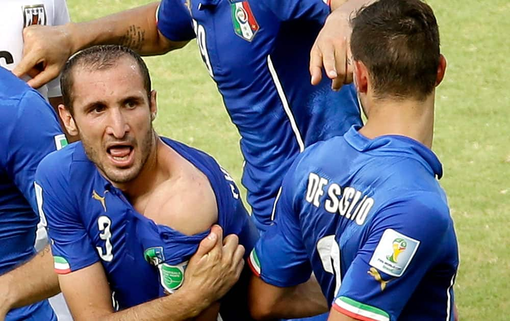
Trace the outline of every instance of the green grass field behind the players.
<instances>
[{"instance_id":1,"label":"green grass field behind the players","mask_svg":"<svg viewBox=\"0 0 510 321\"><path fill-rule=\"evenodd\" d=\"M67 2L74 21L148 3ZM443 162L441 183L460 244L457 306L462 320L510 320L510 2L428 3L448 60L433 150ZM239 135L196 43L146 61L159 95L159 133L209 152L239 182Z\"/></svg>"}]
</instances>

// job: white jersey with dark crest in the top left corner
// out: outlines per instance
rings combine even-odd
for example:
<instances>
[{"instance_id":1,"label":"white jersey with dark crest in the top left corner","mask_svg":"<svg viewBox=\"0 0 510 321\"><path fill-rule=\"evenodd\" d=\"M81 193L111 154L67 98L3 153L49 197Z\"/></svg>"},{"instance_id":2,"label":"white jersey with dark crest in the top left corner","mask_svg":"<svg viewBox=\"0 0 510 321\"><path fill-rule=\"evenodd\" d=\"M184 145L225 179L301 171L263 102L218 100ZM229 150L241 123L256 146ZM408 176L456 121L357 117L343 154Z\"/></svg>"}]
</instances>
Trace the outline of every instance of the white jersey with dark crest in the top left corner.
<instances>
[{"instance_id":1,"label":"white jersey with dark crest in the top left corner","mask_svg":"<svg viewBox=\"0 0 510 321\"><path fill-rule=\"evenodd\" d=\"M14 69L23 57L23 29L29 25L69 22L65 0L2 0L0 66ZM29 76L25 80L30 79ZM60 77L39 88L44 98L61 96Z\"/></svg>"}]
</instances>

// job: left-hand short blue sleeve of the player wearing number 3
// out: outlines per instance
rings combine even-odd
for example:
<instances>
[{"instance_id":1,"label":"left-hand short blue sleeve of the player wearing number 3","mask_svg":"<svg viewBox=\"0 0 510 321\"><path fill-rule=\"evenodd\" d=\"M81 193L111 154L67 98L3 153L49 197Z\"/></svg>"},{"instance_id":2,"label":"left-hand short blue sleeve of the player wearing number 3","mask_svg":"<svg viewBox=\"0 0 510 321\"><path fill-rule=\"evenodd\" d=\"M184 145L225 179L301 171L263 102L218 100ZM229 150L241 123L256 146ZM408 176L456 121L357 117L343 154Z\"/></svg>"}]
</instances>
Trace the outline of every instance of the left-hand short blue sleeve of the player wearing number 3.
<instances>
[{"instance_id":1,"label":"left-hand short blue sleeve of the player wearing number 3","mask_svg":"<svg viewBox=\"0 0 510 321\"><path fill-rule=\"evenodd\" d=\"M77 198L71 192L77 186L69 185L68 171L63 169L65 162L58 153L48 155L39 164L36 184L41 193L38 199L41 217L46 219L52 240L55 271L67 274L99 261L99 256L79 216Z\"/></svg>"}]
</instances>

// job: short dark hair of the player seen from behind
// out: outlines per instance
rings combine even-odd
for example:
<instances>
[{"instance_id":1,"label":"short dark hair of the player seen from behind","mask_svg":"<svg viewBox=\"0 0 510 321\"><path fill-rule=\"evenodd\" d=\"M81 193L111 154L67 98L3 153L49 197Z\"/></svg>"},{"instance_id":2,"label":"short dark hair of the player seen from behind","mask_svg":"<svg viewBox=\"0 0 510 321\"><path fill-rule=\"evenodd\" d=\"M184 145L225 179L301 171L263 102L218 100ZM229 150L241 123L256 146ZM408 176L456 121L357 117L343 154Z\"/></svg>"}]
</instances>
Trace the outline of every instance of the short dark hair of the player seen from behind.
<instances>
[{"instance_id":1,"label":"short dark hair of the player seen from behind","mask_svg":"<svg viewBox=\"0 0 510 321\"><path fill-rule=\"evenodd\" d=\"M379 0L351 17L352 58L368 68L377 98L426 98L436 86L439 29L420 0Z\"/></svg>"}]
</instances>

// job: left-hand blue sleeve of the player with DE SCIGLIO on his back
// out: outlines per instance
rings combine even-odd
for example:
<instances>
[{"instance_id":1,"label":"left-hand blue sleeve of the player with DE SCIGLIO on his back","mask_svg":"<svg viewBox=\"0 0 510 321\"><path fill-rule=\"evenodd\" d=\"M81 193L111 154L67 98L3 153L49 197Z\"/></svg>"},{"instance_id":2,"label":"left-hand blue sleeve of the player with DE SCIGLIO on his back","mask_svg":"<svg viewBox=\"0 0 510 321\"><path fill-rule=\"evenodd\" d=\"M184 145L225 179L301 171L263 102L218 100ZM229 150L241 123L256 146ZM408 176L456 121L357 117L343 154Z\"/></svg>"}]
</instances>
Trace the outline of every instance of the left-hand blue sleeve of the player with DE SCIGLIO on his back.
<instances>
[{"instance_id":1,"label":"left-hand blue sleeve of the player with DE SCIGLIO on his back","mask_svg":"<svg viewBox=\"0 0 510 321\"><path fill-rule=\"evenodd\" d=\"M261 236L249 257L253 273L269 284L294 286L308 281L312 266L304 247L294 199L298 184L292 169L284 178L282 192L276 203L274 222Z\"/></svg>"}]
</instances>

